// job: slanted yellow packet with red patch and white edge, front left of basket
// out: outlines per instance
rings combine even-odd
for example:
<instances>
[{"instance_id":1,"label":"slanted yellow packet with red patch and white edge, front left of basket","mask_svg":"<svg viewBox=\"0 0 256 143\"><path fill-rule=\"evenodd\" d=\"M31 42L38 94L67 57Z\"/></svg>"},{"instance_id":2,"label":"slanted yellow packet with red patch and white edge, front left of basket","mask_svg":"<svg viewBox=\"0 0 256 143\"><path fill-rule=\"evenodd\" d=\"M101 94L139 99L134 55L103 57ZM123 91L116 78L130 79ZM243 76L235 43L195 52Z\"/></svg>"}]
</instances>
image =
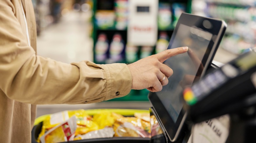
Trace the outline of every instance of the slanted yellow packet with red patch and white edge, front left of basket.
<instances>
[{"instance_id":1,"label":"slanted yellow packet with red patch and white edge, front left of basket","mask_svg":"<svg viewBox=\"0 0 256 143\"><path fill-rule=\"evenodd\" d=\"M57 143L64 141L72 141L75 137L76 118L71 117L67 121L53 127L41 136L41 143Z\"/></svg>"}]
</instances>

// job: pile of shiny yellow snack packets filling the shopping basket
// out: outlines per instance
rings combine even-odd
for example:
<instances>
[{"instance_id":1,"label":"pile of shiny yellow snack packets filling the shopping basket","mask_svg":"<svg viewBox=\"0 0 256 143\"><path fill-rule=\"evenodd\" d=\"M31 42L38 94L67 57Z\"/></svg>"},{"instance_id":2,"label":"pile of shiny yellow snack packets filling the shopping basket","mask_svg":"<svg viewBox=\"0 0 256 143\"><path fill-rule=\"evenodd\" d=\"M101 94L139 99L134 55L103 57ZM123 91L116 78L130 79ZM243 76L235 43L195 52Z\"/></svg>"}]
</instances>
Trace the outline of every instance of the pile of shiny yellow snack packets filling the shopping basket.
<instances>
[{"instance_id":1,"label":"pile of shiny yellow snack packets filling the shopping basket","mask_svg":"<svg viewBox=\"0 0 256 143\"><path fill-rule=\"evenodd\" d=\"M102 110L88 115L86 110L55 113L43 121L38 142L54 143L103 137L150 137L149 113L134 117Z\"/></svg>"}]
</instances>

